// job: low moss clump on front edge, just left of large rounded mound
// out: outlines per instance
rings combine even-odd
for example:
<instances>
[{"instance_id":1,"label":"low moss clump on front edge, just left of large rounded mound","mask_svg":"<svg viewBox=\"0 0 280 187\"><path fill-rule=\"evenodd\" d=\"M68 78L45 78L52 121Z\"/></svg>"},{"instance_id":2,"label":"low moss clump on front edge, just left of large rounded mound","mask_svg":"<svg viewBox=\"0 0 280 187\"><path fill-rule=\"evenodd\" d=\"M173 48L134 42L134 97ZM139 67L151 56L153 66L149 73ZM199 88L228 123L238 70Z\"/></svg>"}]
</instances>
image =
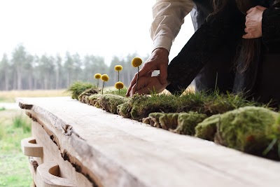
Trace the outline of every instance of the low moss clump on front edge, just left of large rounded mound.
<instances>
[{"instance_id":1,"label":"low moss clump on front edge, just left of large rounded mound","mask_svg":"<svg viewBox=\"0 0 280 187\"><path fill-rule=\"evenodd\" d=\"M189 113L150 113L143 122L178 134L195 134L198 123L207 118L206 114L190 111Z\"/></svg>"}]
</instances>

